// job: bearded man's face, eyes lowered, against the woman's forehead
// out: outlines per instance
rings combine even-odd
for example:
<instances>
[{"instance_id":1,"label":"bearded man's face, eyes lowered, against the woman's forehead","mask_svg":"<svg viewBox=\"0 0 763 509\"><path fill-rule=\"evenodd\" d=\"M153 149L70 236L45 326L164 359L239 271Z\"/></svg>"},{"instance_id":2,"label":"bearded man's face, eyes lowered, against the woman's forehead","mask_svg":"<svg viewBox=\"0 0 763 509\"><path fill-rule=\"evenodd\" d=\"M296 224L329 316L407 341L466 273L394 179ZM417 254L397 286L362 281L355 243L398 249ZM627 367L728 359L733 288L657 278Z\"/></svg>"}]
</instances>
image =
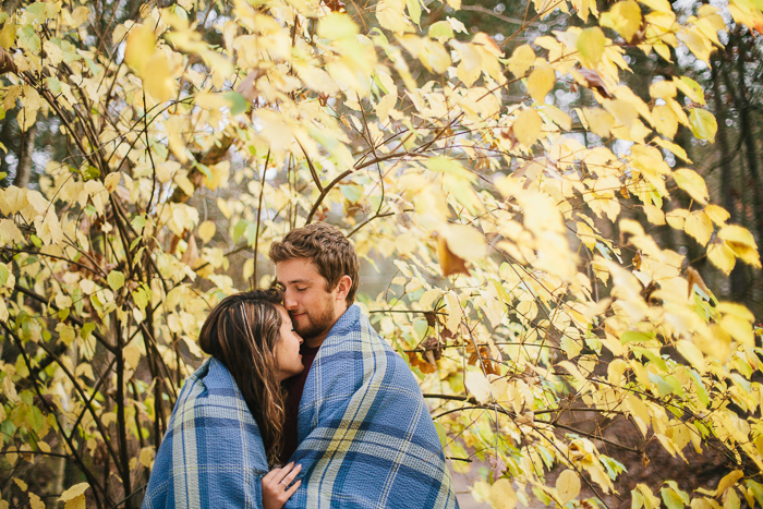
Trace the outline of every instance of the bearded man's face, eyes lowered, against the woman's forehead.
<instances>
[{"instance_id":1,"label":"bearded man's face, eyes lowered, against the woman's forehead","mask_svg":"<svg viewBox=\"0 0 763 509\"><path fill-rule=\"evenodd\" d=\"M337 295L340 286L328 291L326 279L318 274L318 267L305 258L276 264L276 278L283 287L283 305L294 330L305 339L307 346L319 346L347 308L341 305L342 298Z\"/></svg>"}]
</instances>

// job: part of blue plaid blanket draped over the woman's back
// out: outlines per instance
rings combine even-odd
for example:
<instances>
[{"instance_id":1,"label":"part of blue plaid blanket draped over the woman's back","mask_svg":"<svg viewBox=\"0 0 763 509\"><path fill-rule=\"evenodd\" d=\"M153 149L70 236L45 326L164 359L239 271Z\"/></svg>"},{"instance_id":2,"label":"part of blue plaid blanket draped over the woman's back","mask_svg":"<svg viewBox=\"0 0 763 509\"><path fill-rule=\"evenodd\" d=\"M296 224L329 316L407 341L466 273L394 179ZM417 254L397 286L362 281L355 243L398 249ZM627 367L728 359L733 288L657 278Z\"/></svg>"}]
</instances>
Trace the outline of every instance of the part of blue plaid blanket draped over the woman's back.
<instances>
[{"instance_id":1,"label":"part of blue plaid blanket draped over the woman's back","mask_svg":"<svg viewBox=\"0 0 763 509\"><path fill-rule=\"evenodd\" d=\"M261 508L266 458L233 377L211 357L180 392L143 508Z\"/></svg>"}]
</instances>

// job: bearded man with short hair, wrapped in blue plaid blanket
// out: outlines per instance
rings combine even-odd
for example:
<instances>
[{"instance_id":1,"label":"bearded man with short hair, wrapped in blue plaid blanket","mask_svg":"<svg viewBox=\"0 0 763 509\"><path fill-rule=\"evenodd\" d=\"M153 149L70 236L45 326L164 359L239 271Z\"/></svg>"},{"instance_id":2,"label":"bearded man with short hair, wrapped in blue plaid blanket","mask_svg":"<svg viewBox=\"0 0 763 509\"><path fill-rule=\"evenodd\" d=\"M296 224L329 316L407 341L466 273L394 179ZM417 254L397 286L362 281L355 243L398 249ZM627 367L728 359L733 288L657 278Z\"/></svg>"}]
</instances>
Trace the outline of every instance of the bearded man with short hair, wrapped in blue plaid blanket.
<instances>
[{"instance_id":1,"label":"bearded man with short hair, wrapped in blue plaid blanket","mask_svg":"<svg viewBox=\"0 0 763 509\"><path fill-rule=\"evenodd\" d=\"M359 264L347 238L308 225L274 243L269 256L304 339L281 456L302 465L302 486L287 507L458 507L419 385L352 305Z\"/></svg>"}]
</instances>

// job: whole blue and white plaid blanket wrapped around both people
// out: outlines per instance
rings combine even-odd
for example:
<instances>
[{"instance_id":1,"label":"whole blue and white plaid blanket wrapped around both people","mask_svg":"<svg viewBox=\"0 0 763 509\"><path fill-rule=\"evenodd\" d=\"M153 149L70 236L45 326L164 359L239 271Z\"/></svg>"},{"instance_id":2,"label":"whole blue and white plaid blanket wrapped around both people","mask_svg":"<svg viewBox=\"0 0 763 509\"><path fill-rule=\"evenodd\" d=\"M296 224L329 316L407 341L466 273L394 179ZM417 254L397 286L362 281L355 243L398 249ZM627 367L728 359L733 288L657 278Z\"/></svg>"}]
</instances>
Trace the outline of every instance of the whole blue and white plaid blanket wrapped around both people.
<instances>
[{"instance_id":1,"label":"whole blue and white plaid blanket wrapped around both people","mask_svg":"<svg viewBox=\"0 0 763 509\"><path fill-rule=\"evenodd\" d=\"M302 486L287 509L458 508L421 389L358 306L320 347L298 426ZM211 359L183 387L143 507L262 507L265 458L233 378Z\"/></svg>"}]
</instances>

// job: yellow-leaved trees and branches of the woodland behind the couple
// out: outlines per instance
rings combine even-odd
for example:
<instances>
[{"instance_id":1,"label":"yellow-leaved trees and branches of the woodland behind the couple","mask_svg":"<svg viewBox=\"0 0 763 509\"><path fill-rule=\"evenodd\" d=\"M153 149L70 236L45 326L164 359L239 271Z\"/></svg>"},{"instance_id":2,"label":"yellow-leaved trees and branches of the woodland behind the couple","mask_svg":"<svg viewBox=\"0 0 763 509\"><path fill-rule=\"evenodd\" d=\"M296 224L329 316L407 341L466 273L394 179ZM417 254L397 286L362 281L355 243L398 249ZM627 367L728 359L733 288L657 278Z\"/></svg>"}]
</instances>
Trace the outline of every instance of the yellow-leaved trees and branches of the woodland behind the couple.
<instances>
[{"instance_id":1,"label":"yellow-leaved trees and branches of the woodland behind the couple","mask_svg":"<svg viewBox=\"0 0 763 509\"><path fill-rule=\"evenodd\" d=\"M760 0L2 11L0 507L140 506L317 220L464 507L763 505Z\"/></svg>"}]
</instances>

